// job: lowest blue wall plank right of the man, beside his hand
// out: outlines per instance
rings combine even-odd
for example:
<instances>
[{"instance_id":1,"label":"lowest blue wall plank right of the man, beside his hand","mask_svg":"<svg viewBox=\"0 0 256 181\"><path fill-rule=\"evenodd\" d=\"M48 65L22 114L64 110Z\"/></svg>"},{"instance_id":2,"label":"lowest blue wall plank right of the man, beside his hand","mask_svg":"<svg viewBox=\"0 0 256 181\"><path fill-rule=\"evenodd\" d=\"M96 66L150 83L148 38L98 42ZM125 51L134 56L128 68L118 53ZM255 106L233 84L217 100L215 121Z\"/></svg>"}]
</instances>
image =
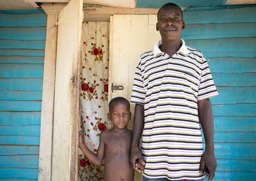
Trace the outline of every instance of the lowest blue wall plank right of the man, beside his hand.
<instances>
[{"instance_id":1,"label":"lowest blue wall plank right of the man, beside his hand","mask_svg":"<svg viewBox=\"0 0 256 181\"><path fill-rule=\"evenodd\" d=\"M241 180L254 180L255 172L230 172L230 171L217 171L215 173L214 181L241 181ZM207 180L206 178L204 180Z\"/></svg>"}]
</instances>

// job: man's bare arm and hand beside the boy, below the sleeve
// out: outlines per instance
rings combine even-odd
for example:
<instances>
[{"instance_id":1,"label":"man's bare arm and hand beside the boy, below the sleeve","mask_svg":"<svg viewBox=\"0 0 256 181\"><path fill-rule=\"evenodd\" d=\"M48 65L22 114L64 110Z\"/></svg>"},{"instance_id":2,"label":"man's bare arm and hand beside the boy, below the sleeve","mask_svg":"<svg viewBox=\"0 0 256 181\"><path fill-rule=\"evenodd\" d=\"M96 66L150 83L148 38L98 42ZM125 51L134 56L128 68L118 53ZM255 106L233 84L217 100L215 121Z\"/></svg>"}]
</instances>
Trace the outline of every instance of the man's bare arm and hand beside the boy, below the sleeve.
<instances>
[{"instance_id":1,"label":"man's bare arm and hand beside the boy, below the sleeve","mask_svg":"<svg viewBox=\"0 0 256 181\"><path fill-rule=\"evenodd\" d=\"M140 173L143 171L135 167L135 162L138 159L141 164L145 165L145 162L142 158L142 155L139 149L139 141L140 141L143 128L144 128L144 105L136 104L135 112L134 112L133 140L131 145L130 162L132 163L133 168Z\"/></svg>"}]
</instances>

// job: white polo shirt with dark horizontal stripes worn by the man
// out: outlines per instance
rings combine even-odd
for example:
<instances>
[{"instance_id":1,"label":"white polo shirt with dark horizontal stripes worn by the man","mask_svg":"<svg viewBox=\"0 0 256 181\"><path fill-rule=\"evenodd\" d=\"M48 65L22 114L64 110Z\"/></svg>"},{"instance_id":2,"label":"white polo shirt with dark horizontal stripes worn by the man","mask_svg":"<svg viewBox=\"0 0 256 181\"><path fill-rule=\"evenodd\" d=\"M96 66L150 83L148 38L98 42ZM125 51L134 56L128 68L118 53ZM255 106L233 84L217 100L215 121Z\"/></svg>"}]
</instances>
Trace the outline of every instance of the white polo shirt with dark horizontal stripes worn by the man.
<instances>
[{"instance_id":1,"label":"white polo shirt with dark horizontal stripes worn by the man","mask_svg":"<svg viewBox=\"0 0 256 181\"><path fill-rule=\"evenodd\" d=\"M218 95L201 51L182 46L172 57L159 49L143 53L131 102L143 104L141 152L148 178L201 179L202 133L197 101Z\"/></svg>"}]
</instances>

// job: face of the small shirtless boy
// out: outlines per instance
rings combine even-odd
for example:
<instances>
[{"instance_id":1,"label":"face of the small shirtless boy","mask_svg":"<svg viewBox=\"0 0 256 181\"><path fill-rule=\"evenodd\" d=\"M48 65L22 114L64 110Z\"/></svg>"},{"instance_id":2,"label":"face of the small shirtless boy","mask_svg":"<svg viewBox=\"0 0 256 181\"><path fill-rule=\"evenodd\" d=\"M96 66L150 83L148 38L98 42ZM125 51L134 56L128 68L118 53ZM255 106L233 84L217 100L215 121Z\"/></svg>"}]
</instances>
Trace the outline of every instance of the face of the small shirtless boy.
<instances>
[{"instance_id":1,"label":"face of the small shirtless boy","mask_svg":"<svg viewBox=\"0 0 256 181\"><path fill-rule=\"evenodd\" d=\"M125 103L118 102L112 105L108 116L114 127L123 129L130 120L131 112Z\"/></svg>"}]
</instances>

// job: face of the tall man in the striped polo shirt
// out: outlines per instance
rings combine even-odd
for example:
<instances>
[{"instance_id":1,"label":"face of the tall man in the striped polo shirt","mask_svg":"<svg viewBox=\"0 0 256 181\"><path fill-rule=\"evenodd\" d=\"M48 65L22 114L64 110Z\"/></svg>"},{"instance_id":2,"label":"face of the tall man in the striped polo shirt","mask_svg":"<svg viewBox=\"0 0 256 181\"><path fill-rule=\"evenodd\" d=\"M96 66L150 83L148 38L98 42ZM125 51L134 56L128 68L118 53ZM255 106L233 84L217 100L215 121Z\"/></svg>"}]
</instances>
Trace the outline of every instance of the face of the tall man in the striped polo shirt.
<instances>
[{"instance_id":1,"label":"face of the tall man in the striped polo shirt","mask_svg":"<svg viewBox=\"0 0 256 181\"><path fill-rule=\"evenodd\" d=\"M184 27L182 14L177 7L166 7L159 11L157 31L160 32L163 41L179 40Z\"/></svg>"}]
</instances>

